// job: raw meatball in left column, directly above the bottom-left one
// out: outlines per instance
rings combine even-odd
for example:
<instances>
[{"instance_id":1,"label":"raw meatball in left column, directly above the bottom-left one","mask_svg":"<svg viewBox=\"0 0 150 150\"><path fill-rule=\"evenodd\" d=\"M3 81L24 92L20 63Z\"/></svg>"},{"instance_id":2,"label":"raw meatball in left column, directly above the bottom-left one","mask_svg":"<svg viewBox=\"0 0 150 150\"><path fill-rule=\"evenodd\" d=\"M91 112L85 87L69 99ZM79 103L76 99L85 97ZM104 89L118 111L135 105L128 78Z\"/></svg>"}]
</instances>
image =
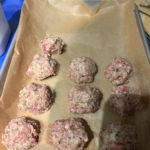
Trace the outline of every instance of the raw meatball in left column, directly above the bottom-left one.
<instances>
[{"instance_id":1,"label":"raw meatball in left column, directly above the bottom-left one","mask_svg":"<svg viewBox=\"0 0 150 150\"><path fill-rule=\"evenodd\" d=\"M20 109L35 115L47 112L52 105L52 92L46 85L31 83L19 93Z\"/></svg>"}]
</instances>

